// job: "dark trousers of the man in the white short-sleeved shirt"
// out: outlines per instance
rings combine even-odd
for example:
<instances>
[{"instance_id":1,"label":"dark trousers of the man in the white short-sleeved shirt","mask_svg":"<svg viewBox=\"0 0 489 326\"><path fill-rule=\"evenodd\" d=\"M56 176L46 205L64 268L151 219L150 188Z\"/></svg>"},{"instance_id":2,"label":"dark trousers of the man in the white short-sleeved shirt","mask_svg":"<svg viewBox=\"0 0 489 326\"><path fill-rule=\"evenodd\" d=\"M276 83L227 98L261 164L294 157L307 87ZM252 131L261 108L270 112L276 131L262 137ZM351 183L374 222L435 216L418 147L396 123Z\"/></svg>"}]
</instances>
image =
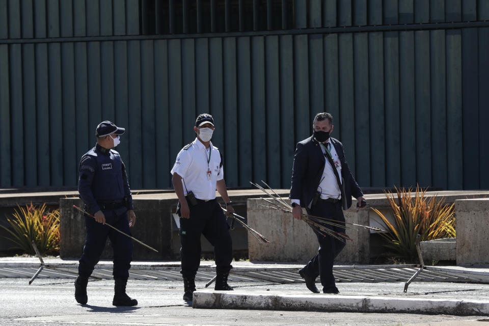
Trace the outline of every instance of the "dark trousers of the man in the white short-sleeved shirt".
<instances>
[{"instance_id":1,"label":"dark trousers of the man in the white short-sleeved shirt","mask_svg":"<svg viewBox=\"0 0 489 326\"><path fill-rule=\"evenodd\" d=\"M224 212L215 199L199 200L196 206L190 206L190 219L180 218L180 273L185 278L195 277L200 266L202 234L214 246L216 271L228 273L232 267L233 245Z\"/></svg>"}]
</instances>

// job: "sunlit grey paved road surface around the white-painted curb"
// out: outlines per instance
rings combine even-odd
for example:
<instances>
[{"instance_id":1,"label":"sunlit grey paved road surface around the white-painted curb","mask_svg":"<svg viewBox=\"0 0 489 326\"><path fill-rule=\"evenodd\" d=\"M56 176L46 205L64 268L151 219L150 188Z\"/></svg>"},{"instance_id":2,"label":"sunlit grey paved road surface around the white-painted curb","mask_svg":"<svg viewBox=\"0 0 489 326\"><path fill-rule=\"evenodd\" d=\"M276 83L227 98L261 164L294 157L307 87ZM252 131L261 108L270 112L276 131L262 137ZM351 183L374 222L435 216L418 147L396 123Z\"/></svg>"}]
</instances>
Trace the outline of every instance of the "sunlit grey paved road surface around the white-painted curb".
<instances>
[{"instance_id":1,"label":"sunlit grey paved road surface around the white-painted curb","mask_svg":"<svg viewBox=\"0 0 489 326\"><path fill-rule=\"evenodd\" d=\"M305 288L304 284L231 285L250 291L301 292ZM197 282L198 288L203 286L203 282ZM401 283L345 283L339 287L344 294L361 291L405 295ZM473 316L193 309L181 300L181 282L173 281L130 280L128 293L138 299L137 307L113 307L113 281L110 280L90 281L88 292L89 304L80 306L74 301L73 280L37 279L28 285L28 279L0 279L0 325L489 325L489 322L475 321L487 317ZM407 295L480 298L487 293L489 285L414 283Z\"/></svg>"}]
</instances>

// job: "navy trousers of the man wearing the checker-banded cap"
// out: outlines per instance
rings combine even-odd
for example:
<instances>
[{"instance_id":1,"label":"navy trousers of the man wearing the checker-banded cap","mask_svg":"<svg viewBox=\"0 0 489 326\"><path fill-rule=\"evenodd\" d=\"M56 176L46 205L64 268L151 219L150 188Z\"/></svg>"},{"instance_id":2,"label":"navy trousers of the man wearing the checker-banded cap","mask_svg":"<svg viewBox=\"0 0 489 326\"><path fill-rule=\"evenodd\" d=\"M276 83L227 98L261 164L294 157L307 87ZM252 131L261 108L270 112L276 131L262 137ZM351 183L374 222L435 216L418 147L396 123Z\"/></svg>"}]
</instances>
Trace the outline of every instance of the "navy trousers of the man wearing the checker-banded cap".
<instances>
[{"instance_id":1,"label":"navy trousers of the man wearing the checker-banded cap","mask_svg":"<svg viewBox=\"0 0 489 326\"><path fill-rule=\"evenodd\" d=\"M113 210L104 210L105 221L122 232L131 235L127 212L117 215ZM132 240L116 230L98 223L94 218L85 215L87 238L83 255L79 260L78 275L90 277L95 265L100 259L107 237L111 240L114 251L114 269L112 275L115 279L128 279L129 268L132 261Z\"/></svg>"}]
</instances>

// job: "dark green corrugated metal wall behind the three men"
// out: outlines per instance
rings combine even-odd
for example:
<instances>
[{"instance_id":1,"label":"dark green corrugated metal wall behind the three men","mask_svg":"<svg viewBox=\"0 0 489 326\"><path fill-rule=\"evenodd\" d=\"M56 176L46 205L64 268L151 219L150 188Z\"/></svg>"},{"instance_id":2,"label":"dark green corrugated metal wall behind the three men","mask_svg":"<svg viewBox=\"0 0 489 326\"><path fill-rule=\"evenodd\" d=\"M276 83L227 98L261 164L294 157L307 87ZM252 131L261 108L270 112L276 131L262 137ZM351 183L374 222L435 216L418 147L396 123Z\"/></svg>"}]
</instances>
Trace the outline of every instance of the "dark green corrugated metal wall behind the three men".
<instances>
[{"instance_id":1,"label":"dark green corrugated metal wall behind the three men","mask_svg":"<svg viewBox=\"0 0 489 326\"><path fill-rule=\"evenodd\" d=\"M304 33L179 38L131 37L135 0L0 0L0 186L75 185L108 119L127 128L131 187L169 187L209 112L229 186L288 187L295 142L328 111L361 186L489 188L489 28L312 30L480 22L489 2L297 3Z\"/></svg>"}]
</instances>

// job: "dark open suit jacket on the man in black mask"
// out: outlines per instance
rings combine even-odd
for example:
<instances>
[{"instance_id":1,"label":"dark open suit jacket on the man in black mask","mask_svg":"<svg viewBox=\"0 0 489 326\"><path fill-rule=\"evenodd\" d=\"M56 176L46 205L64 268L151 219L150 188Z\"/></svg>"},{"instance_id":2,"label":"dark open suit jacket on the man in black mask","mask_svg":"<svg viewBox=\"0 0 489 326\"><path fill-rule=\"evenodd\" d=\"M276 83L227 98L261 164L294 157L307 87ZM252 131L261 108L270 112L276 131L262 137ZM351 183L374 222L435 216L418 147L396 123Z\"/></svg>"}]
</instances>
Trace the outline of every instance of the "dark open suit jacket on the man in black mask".
<instances>
[{"instance_id":1,"label":"dark open suit jacket on the man in black mask","mask_svg":"<svg viewBox=\"0 0 489 326\"><path fill-rule=\"evenodd\" d=\"M363 193L348 168L343 144L334 138L331 138L331 142L341 162L341 177L343 178L341 198L346 199L343 209L348 209L351 206L351 196L358 198L363 196ZM324 164L330 164L330 162L324 157L319 143L313 136L297 143L289 198L299 199L302 207L311 208L311 201L321 181Z\"/></svg>"}]
</instances>

